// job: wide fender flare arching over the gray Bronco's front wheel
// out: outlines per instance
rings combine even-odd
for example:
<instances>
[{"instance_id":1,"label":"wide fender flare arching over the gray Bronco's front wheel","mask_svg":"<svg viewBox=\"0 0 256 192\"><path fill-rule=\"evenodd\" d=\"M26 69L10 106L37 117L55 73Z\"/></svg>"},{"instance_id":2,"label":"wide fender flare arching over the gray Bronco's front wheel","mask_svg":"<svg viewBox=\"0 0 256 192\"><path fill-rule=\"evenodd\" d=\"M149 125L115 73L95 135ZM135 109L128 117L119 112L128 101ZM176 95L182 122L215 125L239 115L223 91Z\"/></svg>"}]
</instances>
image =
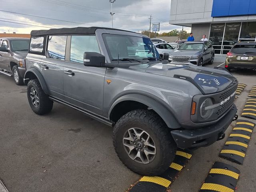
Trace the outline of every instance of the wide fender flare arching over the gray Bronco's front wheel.
<instances>
[{"instance_id":1,"label":"wide fender flare arching over the gray Bronco's front wheel","mask_svg":"<svg viewBox=\"0 0 256 192\"><path fill-rule=\"evenodd\" d=\"M170 112L170 110L168 110L163 104L153 98L142 94L126 94L118 98L110 107L110 110L108 112L108 119L110 119L110 115L114 107L122 101L140 102L154 110L164 120L169 128L177 129L181 127L180 123L178 122L178 120L176 120L172 112Z\"/></svg>"}]
</instances>

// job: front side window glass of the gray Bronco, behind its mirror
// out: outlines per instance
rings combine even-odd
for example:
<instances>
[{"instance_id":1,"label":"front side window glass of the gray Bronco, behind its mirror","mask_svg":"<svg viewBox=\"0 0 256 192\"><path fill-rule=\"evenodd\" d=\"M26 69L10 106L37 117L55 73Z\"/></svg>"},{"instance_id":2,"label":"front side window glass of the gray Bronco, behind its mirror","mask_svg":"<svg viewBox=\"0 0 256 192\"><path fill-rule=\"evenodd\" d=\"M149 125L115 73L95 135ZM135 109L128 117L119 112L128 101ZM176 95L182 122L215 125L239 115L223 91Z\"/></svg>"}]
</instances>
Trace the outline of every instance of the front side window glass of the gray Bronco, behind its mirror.
<instances>
[{"instance_id":1,"label":"front side window glass of the gray Bronco, behind its mirror","mask_svg":"<svg viewBox=\"0 0 256 192\"><path fill-rule=\"evenodd\" d=\"M100 53L96 36L72 36L70 46L70 61L83 63L84 52Z\"/></svg>"}]
</instances>

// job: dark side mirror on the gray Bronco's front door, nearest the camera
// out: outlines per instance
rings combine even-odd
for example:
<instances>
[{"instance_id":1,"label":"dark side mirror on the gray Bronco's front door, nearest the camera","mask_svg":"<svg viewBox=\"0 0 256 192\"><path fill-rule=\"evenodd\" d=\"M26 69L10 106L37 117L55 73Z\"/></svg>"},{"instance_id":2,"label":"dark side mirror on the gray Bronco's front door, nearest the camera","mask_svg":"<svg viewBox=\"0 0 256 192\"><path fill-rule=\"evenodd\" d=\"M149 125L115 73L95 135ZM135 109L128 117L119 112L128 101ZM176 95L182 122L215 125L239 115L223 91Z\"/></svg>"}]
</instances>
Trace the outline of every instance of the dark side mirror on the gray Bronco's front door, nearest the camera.
<instances>
[{"instance_id":1,"label":"dark side mirror on the gray Bronco's front door, nearest the camera","mask_svg":"<svg viewBox=\"0 0 256 192\"><path fill-rule=\"evenodd\" d=\"M84 52L84 66L104 67L105 56L96 52Z\"/></svg>"}]
</instances>

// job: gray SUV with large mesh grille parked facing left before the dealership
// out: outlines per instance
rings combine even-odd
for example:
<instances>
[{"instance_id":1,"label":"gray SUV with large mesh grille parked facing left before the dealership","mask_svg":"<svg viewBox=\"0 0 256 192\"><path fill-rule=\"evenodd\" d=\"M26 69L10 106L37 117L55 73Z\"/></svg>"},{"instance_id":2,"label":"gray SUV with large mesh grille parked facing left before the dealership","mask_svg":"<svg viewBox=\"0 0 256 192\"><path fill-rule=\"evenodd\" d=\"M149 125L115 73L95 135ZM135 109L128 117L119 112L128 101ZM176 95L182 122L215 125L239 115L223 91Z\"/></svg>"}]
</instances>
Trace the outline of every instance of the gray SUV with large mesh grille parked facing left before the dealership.
<instances>
[{"instance_id":1,"label":"gray SUV with large mesh grille parked facing left before the dealership","mask_svg":"<svg viewBox=\"0 0 256 192\"><path fill-rule=\"evenodd\" d=\"M214 61L214 48L209 41L185 42L169 56L172 63L203 66Z\"/></svg>"}]
</instances>

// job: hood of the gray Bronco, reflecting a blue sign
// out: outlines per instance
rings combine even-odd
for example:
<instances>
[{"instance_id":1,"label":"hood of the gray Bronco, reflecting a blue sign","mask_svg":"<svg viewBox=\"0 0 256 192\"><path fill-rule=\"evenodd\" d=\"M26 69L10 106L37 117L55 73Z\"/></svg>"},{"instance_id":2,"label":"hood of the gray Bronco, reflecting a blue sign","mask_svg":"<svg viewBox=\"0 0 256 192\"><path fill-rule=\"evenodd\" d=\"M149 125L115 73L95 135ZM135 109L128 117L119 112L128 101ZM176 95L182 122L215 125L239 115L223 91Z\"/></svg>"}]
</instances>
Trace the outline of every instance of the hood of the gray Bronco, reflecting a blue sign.
<instances>
[{"instance_id":1,"label":"hood of the gray Bronco, reflecting a blue sign","mask_svg":"<svg viewBox=\"0 0 256 192\"><path fill-rule=\"evenodd\" d=\"M226 70L171 64L167 62L140 64L130 66L130 69L172 78L188 77L187 80L198 87L202 94L220 92L238 82L237 79Z\"/></svg>"}]
</instances>

